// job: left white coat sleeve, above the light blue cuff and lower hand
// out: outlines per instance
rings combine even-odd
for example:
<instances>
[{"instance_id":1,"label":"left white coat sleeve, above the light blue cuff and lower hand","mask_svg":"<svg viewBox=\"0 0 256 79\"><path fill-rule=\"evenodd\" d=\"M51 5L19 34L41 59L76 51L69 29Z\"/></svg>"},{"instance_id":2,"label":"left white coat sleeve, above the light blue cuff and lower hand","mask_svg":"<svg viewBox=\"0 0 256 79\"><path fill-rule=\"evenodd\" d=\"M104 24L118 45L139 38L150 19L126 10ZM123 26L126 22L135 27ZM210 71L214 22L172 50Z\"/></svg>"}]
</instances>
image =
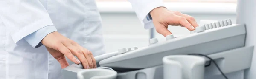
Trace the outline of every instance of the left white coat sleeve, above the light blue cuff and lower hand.
<instances>
[{"instance_id":1,"label":"left white coat sleeve, above the light blue cuff and lower hand","mask_svg":"<svg viewBox=\"0 0 256 79\"><path fill-rule=\"evenodd\" d=\"M0 17L11 31L15 44L27 35L53 25L47 10L38 0L0 0Z\"/></svg>"}]
</instances>

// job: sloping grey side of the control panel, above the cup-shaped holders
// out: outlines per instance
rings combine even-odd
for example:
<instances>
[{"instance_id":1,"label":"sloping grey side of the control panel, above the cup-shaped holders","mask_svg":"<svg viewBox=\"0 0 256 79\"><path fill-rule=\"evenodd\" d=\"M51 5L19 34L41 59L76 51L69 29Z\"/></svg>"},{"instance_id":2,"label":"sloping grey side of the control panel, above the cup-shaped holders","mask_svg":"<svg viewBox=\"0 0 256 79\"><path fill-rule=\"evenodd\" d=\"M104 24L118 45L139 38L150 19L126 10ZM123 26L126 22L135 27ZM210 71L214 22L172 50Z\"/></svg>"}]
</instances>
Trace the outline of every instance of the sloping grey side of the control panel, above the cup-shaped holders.
<instances>
[{"instance_id":1,"label":"sloping grey side of the control panel, above the cup-shaped holders","mask_svg":"<svg viewBox=\"0 0 256 79\"><path fill-rule=\"evenodd\" d=\"M162 65L162 58L168 55L194 53L208 55L243 47L245 34L244 25L213 28L112 56L100 61L99 65L118 71L154 67Z\"/></svg>"}]
</instances>

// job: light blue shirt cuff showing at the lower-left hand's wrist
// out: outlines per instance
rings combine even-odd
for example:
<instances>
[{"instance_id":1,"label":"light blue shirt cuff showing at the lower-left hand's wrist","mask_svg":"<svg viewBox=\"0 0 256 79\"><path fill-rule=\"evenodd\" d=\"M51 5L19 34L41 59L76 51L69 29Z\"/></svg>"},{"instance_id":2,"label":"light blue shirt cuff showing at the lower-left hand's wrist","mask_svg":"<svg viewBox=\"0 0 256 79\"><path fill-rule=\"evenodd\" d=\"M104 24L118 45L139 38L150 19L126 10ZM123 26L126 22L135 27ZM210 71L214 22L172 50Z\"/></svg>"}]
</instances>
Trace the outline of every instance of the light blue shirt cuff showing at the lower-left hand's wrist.
<instances>
[{"instance_id":1,"label":"light blue shirt cuff showing at the lower-left hand's wrist","mask_svg":"<svg viewBox=\"0 0 256 79\"><path fill-rule=\"evenodd\" d=\"M24 37L24 39L31 45L33 48L38 48L42 46L41 40L48 34L57 31L57 29L53 25L46 26L44 28L39 29L38 31L35 31L32 34L29 34L28 36Z\"/></svg>"}]
</instances>

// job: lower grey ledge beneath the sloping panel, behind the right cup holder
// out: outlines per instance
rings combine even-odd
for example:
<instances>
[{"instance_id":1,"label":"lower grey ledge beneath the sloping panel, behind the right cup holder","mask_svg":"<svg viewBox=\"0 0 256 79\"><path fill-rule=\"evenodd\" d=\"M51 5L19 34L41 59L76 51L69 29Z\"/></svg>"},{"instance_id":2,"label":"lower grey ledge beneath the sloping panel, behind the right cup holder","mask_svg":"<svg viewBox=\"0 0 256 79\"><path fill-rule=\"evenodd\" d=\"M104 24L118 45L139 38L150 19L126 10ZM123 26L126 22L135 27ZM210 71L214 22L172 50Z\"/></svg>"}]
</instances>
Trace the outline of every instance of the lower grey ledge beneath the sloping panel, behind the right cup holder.
<instances>
[{"instance_id":1,"label":"lower grey ledge beneath the sloping panel, behind the right cup holder","mask_svg":"<svg viewBox=\"0 0 256 79\"><path fill-rule=\"evenodd\" d=\"M215 60L224 74L230 74L250 68L252 55L253 46L249 46L218 52L208 56ZM206 62L209 62L209 59L205 59ZM163 79L163 73L163 65L159 65L135 71L119 72L117 79ZM221 76L220 71L218 71L215 65L205 68L205 79L209 79L211 76ZM223 76L221 76L222 78ZM228 78L232 78L232 76L228 76Z\"/></svg>"}]
</instances>

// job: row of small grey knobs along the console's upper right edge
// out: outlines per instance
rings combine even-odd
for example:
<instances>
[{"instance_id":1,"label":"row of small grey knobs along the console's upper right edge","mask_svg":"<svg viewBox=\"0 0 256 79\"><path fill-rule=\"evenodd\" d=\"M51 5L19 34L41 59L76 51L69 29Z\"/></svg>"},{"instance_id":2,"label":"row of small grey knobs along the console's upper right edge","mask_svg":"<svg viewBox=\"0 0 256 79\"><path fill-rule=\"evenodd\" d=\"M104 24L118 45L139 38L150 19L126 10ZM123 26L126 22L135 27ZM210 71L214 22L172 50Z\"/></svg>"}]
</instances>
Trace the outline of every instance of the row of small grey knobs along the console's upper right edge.
<instances>
[{"instance_id":1,"label":"row of small grey knobs along the console's upper right edge","mask_svg":"<svg viewBox=\"0 0 256 79\"><path fill-rule=\"evenodd\" d=\"M209 29L212 29L212 28L224 27L224 26L227 26L227 25L232 25L231 19L222 20L222 21L218 21L218 22L215 22L215 23L209 23L209 24L205 24L203 26L196 27L194 31L190 31L190 34L193 34L195 32L197 32L197 33L202 32L204 30L209 30Z\"/></svg>"}]
</instances>

